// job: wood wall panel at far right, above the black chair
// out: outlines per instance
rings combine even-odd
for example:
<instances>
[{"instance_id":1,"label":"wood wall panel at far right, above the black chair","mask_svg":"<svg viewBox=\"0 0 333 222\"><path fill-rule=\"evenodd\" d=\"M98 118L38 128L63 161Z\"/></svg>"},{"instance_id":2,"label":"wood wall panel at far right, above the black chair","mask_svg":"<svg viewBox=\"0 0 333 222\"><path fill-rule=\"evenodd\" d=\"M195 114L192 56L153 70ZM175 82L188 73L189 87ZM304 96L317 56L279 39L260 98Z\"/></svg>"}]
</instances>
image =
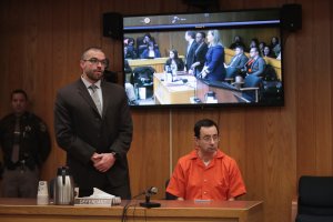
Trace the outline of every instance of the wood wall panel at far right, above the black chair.
<instances>
[{"instance_id":1,"label":"wood wall panel at far right, above the black chair","mask_svg":"<svg viewBox=\"0 0 333 222\"><path fill-rule=\"evenodd\" d=\"M332 50L327 47L331 30L327 12L330 4L324 1L303 6L303 22L306 26L303 24L301 34L303 38L299 38L297 54L300 57L296 59L300 65L296 84L297 129L302 129L296 134L299 175L332 174L332 167L327 164L332 162L332 109L331 101L325 95L321 97L321 94L332 95L332 70L329 65L332 63L330 62ZM324 13L325 11L327 13ZM306 63L311 65L304 65Z\"/></svg>"}]
</instances>

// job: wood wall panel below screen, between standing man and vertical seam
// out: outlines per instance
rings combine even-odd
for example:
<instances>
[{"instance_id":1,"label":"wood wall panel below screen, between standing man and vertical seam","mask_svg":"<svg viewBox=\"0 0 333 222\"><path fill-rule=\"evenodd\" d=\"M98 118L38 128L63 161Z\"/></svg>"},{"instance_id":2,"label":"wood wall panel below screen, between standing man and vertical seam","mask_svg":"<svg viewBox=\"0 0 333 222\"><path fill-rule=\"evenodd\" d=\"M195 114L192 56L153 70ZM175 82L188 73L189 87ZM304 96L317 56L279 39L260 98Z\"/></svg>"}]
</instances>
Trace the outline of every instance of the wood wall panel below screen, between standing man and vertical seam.
<instances>
[{"instance_id":1,"label":"wood wall panel below screen, between standing man and vertical seam","mask_svg":"<svg viewBox=\"0 0 333 222\"><path fill-rule=\"evenodd\" d=\"M158 186L164 198L170 165L170 113L168 110L133 111L134 134L129 152L132 195Z\"/></svg>"}]
</instances>

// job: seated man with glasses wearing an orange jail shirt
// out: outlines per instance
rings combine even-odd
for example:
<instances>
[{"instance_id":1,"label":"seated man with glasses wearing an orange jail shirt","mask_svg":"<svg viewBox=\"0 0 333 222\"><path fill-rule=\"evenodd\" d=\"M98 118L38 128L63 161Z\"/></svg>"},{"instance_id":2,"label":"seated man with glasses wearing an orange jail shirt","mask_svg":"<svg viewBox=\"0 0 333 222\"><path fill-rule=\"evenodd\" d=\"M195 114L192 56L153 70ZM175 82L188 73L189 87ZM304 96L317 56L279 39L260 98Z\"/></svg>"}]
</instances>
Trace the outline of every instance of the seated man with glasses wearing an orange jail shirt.
<instances>
[{"instance_id":1,"label":"seated man with glasses wearing an orange jail shirt","mask_svg":"<svg viewBox=\"0 0 333 222\"><path fill-rule=\"evenodd\" d=\"M203 119L194 125L195 148L179 159L167 192L178 200L233 201L246 193L241 171L219 149L219 127Z\"/></svg>"}]
</instances>

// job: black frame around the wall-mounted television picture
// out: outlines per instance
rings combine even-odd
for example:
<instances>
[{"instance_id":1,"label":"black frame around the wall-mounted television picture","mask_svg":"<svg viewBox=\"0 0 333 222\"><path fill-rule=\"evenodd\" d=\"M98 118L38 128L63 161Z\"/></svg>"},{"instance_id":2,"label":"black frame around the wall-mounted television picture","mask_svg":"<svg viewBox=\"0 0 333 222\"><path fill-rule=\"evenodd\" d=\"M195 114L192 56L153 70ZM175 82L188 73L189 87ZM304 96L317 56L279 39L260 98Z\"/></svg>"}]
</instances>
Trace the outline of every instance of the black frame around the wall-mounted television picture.
<instances>
[{"instance_id":1,"label":"black frame around the wall-mounted television picture","mask_svg":"<svg viewBox=\"0 0 333 222\"><path fill-rule=\"evenodd\" d=\"M125 18L140 18L140 17L157 17L157 16L185 16L185 14L203 14L203 13L226 13L226 12L251 12L251 11L278 11L279 12L279 24L276 23L265 23L265 24L252 24L251 28L279 28L280 30L280 46L281 46L281 57L284 58L284 29L282 26L282 13L281 10L282 8L254 8L254 9L238 9L238 10L219 10L219 11L213 11L213 12L175 12L175 13L171 13L171 12L164 12L164 13L140 13L140 14L124 14L122 16L122 20L124 21ZM232 29L242 29L242 28L249 28L249 26L245 24L238 24L238 26L232 26ZM124 23L122 26L123 32L122 32L122 48L124 47L124 36L127 33L145 33L145 32L153 32L157 30L161 30L161 29L145 29L145 30L137 30L137 31L127 31ZM210 30L210 28L196 28L196 29L189 29L189 27L179 27L178 29L163 29L163 31L183 31L183 30ZM122 58L124 58L123 54L123 50L122 50ZM285 105L285 85L284 85L284 59L281 60L281 82L282 82L282 100L281 101L275 101L273 103L269 103L269 102L250 102L250 103L176 103L176 104L142 104L142 105L133 105L130 104L131 109L211 109L211 108L254 108L254 107L276 107L276 108L282 108ZM124 59L122 59L122 71L124 70ZM124 72L123 72L124 73ZM125 74L124 74L125 75ZM122 82L122 87L124 87L125 84L125 77L123 77L123 82Z\"/></svg>"}]
</instances>

